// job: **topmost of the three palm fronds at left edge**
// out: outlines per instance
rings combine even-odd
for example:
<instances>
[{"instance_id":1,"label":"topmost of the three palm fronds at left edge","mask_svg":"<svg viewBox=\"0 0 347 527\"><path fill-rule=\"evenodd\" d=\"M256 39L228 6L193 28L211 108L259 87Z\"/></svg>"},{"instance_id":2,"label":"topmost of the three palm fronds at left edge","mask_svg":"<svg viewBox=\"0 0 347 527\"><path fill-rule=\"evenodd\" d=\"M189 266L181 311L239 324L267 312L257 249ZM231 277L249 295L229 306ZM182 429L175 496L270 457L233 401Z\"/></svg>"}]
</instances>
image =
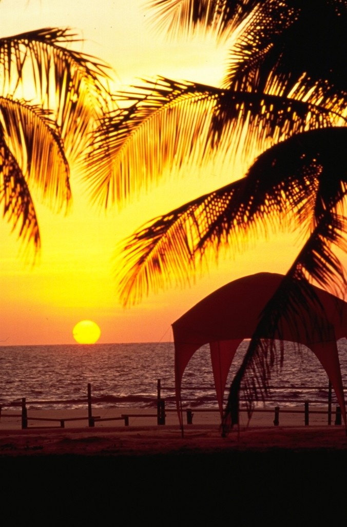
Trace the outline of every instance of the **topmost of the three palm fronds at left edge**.
<instances>
[{"instance_id":1,"label":"topmost of the three palm fronds at left edge","mask_svg":"<svg viewBox=\"0 0 347 527\"><path fill-rule=\"evenodd\" d=\"M109 67L68 48L78 41L76 34L59 28L0 39L2 94L16 94L24 81L28 85L31 80L34 94L29 97L55 112L71 162L86 148L88 133L103 115L109 99Z\"/></svg>"}]
</instances>

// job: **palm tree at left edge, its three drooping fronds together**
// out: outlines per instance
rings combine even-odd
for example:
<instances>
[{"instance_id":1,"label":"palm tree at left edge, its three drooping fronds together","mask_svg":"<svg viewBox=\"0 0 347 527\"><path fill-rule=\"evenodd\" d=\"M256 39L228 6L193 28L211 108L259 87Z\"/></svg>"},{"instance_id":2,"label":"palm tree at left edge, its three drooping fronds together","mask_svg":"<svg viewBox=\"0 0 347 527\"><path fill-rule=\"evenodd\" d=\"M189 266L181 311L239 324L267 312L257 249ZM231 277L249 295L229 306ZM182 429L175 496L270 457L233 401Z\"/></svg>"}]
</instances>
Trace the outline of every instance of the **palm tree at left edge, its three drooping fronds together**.
<instances>
[{"instance_id":1,"label":"palm tree at left edge, its three drooping fronds together","mask_svg":"<svg viewBox=\"0 0 347 527\"><path fill-rule=\"evenodd\" d=\"M108 108L108 67L70 50L70 30L44 28L0 38L0 202L26 247L40 235L33 191L67 210L70 168Z\"/></svg>"}]
</instances>

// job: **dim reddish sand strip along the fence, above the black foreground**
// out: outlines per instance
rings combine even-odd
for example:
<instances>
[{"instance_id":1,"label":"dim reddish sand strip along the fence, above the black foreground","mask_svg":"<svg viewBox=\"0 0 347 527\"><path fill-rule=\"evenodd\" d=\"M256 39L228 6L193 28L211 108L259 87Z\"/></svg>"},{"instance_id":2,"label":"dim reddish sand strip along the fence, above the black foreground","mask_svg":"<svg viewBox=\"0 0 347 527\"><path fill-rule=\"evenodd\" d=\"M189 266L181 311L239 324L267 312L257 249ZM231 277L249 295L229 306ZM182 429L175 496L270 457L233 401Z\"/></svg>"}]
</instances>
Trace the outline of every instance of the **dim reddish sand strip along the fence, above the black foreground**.
<instances>
[{"instance_id":1,"label":"dim reddish sand strip along the fence, above the black foreground","mask_svg":"<svg viewBox=\"0 0 347 527\"><path fill-rule=\"evenodd\" d=\"M341 450L347 449L344 426L328 426L325 408L315 408L304 426L302 406L280 413L274 426L273 412L254 413L247 422L221 437L217 412L193 411L192 424L183 414L183 430L176 412L166 413L158 425L150 409L95 409L95 426L88 426L87 412L78 410L29 410L28 428L22 430L18 412L3 411L0 421L0 456L27 455L148 455L197 454L229 451ZM320 413L322 412L322 413ZM13 417L14 414L17 417ZM123 416L123 418L121 418ZM127 416L128 426L125 426ZM47 419L47 421L45 420ZM52 419L52 421L48 421ZM53 420L54 419L54 420ZM64 427L62 427L64 421Z\"/></svg>"}]
</instances>

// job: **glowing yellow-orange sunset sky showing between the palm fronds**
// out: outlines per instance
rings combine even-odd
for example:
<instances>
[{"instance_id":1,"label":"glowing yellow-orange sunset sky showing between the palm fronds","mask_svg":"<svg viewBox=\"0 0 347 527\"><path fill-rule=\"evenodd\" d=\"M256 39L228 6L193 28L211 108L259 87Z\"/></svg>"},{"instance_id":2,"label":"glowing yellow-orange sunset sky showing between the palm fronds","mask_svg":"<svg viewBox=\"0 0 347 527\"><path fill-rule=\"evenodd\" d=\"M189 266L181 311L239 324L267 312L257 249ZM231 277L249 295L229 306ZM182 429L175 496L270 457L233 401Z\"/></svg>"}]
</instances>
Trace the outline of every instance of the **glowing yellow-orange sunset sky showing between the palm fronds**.
<instances>
[{"instance_id":1,"label":"glowing yellow-orange sunset sky showing between the palm fronds","mask_svg":"<svg viewBox=\"0 0 347 527\"><path fill-rule=\"evenodd\" d=\"M68 26L85 39L79 51L111 64L119 84L156 74L218 84L225 50L206 39L165 41L146 24L141 4L141 0L2 0L0 34ZM73 179L74 201L67 217L36 203L42 251L34 267L18 256L21 244L4 220L0 222L0 344L73 343L72 329L84 318L99 324L100 342L170 340L171 323L228 281L258 271L285 272L298 250L290 236L259 241L243 255L221 261L191 288L168 289L126 310L120 305L113 264L116 245L142 223L182 204L182 196L187 201L239 175L211 166L165 182L121 213L92 209L83 187Z\"/></svg>"}]
</instances>

